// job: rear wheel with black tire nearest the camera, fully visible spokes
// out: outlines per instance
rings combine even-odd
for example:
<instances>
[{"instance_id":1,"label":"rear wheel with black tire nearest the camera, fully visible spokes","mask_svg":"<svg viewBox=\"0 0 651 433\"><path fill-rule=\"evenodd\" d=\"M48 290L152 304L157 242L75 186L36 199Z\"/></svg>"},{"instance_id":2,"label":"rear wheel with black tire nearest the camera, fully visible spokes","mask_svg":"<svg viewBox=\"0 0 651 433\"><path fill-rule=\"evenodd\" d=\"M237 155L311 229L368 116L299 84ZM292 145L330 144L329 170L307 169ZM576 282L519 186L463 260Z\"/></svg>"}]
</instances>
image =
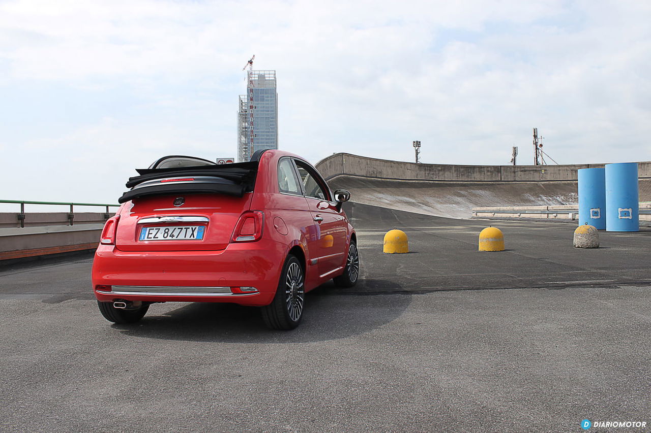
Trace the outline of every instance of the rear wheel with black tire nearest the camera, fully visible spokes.
<instances>
[{"instance_id":1,"label":"rear wheel with black tire nearest the camera, fully visible spokes","mask_svg":"<svg viewBox=\"0 0 651 433\"><path fill-rule=\"evenodd\" d=\"M305 276L301 262L290 254L285 259L281 279L271 304L262 307L262 319L270 329L290 330L303 319Z\"/></svg>"}]
</instances>

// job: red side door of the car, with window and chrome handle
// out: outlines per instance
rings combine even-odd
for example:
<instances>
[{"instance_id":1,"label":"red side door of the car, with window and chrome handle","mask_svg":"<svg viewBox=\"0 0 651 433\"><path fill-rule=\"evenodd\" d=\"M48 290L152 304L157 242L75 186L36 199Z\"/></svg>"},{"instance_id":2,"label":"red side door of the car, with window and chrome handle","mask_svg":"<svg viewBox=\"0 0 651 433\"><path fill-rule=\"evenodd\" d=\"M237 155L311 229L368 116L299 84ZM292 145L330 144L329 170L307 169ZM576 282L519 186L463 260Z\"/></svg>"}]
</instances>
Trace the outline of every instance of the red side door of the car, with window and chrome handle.
<instances>
[{"instance_id":1,"label":"red side door of the car, with window and chrome handle","mask_svg":"<svg viewBox=\"0 0 651 433\"><path fill-rule=\"evenodd\" d=\"M316 169L300 159L294 159L294 163L312 215L313 226L308 241L312 263L316 259L320 275L327 276L341 269L346 261L346 220L337 210L326 181Z\"/></svg>"}]
</instances>

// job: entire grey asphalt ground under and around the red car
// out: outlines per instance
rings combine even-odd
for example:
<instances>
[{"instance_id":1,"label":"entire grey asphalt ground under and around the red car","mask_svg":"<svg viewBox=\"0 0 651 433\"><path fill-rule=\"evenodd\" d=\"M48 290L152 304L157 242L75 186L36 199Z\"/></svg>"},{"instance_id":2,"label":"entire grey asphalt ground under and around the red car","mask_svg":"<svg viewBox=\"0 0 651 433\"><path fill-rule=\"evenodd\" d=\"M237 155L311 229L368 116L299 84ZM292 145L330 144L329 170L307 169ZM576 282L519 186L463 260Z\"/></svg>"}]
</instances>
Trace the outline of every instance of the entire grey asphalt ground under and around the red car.
<instances>
[{"instance_id":1,"label":"entire grey asphalt ground under and around the red car","mask_svg":"<svg viewBox=\"0 0 651 433\"><path fill-rule=\"evenodd\" d=\"M363 280L291 332L230 304L111 324L90 256L0 269L0 431L651 431L651 232L575 250L571 224L496 222L487 253L490 222L348 211ZM411 253L381 253L394 227Z\"/></svg>"}]
</instances>

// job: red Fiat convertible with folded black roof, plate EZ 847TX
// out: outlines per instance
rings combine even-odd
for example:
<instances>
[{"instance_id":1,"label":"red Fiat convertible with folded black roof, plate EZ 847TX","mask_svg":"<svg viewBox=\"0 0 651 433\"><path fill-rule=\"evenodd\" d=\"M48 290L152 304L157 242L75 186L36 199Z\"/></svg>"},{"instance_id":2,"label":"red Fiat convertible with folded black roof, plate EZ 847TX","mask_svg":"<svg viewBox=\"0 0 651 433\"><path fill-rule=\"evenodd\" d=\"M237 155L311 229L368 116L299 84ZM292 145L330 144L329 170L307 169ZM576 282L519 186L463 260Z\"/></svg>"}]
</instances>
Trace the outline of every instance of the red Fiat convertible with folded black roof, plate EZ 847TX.
<instances>
[{"instance_id":1,"label":"red Fiat convertible with folded black roof, plate EZ 847TX","mask_svg":"<svg viewBox=\"0 0 651 433\"><path fill-rule=\"evenodd\" d=\"M307 291L357 282L355 231L341 209L350 193L331 192L300 157L266 150L217 165L169 156L137 171L92 266L107 320L139 321L153 302L234 302L292 329Z\"/></svg>"}]
</instances>

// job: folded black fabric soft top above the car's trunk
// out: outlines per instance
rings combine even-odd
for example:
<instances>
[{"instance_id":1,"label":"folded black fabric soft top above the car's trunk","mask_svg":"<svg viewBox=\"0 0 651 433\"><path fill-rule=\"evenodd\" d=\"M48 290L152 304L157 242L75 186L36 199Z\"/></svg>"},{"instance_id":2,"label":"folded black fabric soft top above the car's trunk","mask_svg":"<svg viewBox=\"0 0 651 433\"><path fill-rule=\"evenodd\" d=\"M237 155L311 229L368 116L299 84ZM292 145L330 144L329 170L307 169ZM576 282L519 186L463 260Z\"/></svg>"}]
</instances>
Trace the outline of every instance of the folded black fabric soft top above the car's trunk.
<instances>
[{"instance_id":1,"label":"folded black fabric soft top above the car's trunk","mask_svg":"<svg viewBox=\"0 0 651 433\"><path fill-rule=\"evenodd\" d=\"M174 168L141 168L136 170L140 176L129 178L126 187L131 188L122 194L118 203L134 198L168 194L228 194L242 197L255 186L258 161L247 163L221 164L214 166L187 166ZM158 179L187 177L192 180L156 182Z\"/></svg>"}]
</instances>

